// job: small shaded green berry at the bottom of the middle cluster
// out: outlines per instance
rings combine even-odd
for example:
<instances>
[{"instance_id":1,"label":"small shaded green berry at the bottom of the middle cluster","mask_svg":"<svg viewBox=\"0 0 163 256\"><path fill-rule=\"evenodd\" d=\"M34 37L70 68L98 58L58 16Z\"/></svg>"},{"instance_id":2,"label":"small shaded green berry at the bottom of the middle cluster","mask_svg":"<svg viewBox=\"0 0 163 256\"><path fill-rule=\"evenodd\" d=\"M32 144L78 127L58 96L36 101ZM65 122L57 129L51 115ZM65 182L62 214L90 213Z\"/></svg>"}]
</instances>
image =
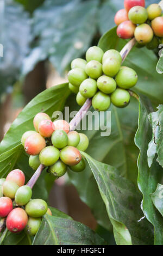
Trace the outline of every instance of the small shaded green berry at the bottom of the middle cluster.
<instances>
[{"instance_id":1,"label":"small shaded green berry at the bottom of the middle cluster","mask_svg":"<svg viewBox=\"0 0 163 256\"><path fill-rule=\"evenodd\" d=\"M58 160L56 163L53 164L49 168L49 171L56 176L57 178L63 176L67 172L67 165L62 162L61 160Z\"/></svg>"}]
</instances>

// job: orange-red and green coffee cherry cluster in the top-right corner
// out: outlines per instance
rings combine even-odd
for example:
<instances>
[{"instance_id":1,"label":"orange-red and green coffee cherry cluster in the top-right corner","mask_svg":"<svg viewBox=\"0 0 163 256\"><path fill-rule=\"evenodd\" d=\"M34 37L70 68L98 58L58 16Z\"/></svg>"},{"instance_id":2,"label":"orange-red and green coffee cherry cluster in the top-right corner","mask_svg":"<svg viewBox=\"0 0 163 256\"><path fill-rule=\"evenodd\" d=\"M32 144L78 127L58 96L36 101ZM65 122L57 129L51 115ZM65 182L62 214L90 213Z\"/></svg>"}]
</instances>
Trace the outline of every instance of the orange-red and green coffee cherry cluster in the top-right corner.
<instances>
[{"instance_id":1,"label":"orange-red and green coffee cherry cluster in the top-right corner","mask_svg":"<svg viewBox=\"0 0 163 256\"><path fill-rule=\"evenodd\" d=\"M159 4L145 8L145 0L124 0L124 8L115 15L117 35L122 39L135 36L137 47L149 50L163 41L163 16Z\"/></svg>"}]
</instances>

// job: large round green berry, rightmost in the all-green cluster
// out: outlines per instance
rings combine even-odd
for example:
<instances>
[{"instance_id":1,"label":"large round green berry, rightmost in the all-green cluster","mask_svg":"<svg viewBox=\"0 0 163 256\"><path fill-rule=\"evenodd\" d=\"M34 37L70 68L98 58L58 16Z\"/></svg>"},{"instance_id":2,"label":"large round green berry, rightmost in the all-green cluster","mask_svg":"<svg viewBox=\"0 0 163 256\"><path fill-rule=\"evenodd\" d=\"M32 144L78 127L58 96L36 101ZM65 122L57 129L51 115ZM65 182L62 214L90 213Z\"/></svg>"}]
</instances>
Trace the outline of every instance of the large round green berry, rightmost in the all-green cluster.
<instances>
[{"instance_id":1,"label":"large round green berry, rightmost in the all-green cluster","mask_svg":"<svg viewBox=\"0 0 163 256\"><path fill-rule=\"evenodd\" d=\"M137 74L130 68L121 69L116 75L115 81L118 87L129 89L137 83Z\"/></svg>"}]
</instances>

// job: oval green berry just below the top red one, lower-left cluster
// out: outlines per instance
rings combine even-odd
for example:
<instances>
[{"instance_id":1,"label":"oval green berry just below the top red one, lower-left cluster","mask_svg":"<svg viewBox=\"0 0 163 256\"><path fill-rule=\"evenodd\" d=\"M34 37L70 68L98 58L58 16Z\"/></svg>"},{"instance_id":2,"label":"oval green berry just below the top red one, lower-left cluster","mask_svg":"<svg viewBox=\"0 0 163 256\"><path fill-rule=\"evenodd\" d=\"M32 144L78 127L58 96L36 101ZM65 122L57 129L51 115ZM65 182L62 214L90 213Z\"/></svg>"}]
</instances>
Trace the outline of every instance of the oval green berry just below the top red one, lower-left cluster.
<instances>
[{"instance_id":1,"label":"oval green berry just below the top red one, lower-left cluster","mask_svg":"<svg viewBox=\"0 0 163 256\"><path fill-rule=\"evenodd\" d=\"M29 186L21 186L15 194L15 202L17 205L26 205L32 197L32 189Z\"/></svg>"}]
</instances>

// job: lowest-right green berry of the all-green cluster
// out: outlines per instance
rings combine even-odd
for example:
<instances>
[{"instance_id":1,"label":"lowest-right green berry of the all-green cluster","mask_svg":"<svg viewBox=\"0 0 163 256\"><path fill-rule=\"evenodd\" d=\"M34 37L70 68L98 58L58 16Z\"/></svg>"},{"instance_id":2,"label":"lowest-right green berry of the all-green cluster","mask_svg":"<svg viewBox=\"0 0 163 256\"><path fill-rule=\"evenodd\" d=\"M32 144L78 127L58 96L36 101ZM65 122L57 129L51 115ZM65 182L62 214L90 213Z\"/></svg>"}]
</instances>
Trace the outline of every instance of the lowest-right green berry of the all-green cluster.
<instances>
[{"instance_id":1,"label":"lowest-right green berry of the all-green cluster","mask_svg":"<svg viewBox=\"0 0 163 256\"><path fill-rule=\"evenodd\" d=\"M111 102L116 107L126 107L130 101L130 95L127 90L117 88L115 92L111 94Z\"/></svg>"}]
</instances>

